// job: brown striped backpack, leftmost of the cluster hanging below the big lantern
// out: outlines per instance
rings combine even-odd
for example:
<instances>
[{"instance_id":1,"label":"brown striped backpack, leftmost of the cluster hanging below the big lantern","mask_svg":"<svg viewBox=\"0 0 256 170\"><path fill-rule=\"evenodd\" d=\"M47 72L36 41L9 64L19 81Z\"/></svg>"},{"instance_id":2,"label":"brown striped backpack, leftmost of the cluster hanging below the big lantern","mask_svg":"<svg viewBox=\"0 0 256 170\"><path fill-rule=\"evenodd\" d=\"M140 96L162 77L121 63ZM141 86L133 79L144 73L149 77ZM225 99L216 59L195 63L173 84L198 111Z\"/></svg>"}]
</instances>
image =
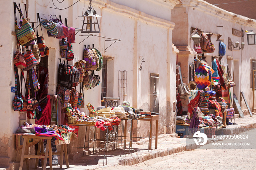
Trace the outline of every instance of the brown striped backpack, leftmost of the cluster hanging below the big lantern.
<instances>
[{"instance_id":1,"label":"brown striped backpack, leftmost of the cluster hanging below the big lantern","mask_svg":"<svg viewBox=\"0 0 256 170\"><path fill-rule=\"evenodd\" d=\"M84 47L83 58L86 61L86 70L95 70L96 68L96 58L91 49Z\"/></svg>"}]
</instances>

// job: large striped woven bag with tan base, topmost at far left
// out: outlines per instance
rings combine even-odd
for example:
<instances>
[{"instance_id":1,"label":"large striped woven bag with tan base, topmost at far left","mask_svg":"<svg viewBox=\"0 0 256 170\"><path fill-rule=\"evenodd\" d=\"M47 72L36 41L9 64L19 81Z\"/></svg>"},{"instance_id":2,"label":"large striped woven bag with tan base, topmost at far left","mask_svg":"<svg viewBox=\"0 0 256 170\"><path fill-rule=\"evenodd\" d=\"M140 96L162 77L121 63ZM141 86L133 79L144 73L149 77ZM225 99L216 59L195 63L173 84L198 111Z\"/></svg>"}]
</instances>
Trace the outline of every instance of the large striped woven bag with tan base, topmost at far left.
<instances>
[{"instance_id":1,"label":"large striped woven bag with tan base, topmost at far left","mask_svg":"<svg viewBox=\"0 0 256 170\"><path fill-rule=\"evenodd\" d=\"M22 26L19 28L17 25L15 25L15 32L19 43L22 46L29 45L37 38L33 28L31 27L30 23L27 22L24 16L22 16Z\"/></svg>"}]
</instances>

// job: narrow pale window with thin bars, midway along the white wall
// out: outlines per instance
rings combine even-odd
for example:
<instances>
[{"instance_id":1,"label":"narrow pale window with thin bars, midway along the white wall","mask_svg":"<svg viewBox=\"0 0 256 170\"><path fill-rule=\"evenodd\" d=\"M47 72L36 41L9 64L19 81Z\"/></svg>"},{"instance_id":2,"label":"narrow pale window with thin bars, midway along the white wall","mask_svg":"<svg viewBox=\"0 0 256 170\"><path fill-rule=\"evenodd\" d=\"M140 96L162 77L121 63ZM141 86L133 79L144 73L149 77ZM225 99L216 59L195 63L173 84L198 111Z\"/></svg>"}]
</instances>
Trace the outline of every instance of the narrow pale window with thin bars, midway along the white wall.
<instances>
[{"instance_id":1,"label":"narrow pale window with thin bars, midway along the white wall","mask_svg":"<svg viewBox=\"0 0 256 170\"><path fill-rule=\"evenodd\" d=\"M119 103L126 101L127 96L127 71L118 70L118 97L120 98Z\"/></svg>"}]
</instances>

